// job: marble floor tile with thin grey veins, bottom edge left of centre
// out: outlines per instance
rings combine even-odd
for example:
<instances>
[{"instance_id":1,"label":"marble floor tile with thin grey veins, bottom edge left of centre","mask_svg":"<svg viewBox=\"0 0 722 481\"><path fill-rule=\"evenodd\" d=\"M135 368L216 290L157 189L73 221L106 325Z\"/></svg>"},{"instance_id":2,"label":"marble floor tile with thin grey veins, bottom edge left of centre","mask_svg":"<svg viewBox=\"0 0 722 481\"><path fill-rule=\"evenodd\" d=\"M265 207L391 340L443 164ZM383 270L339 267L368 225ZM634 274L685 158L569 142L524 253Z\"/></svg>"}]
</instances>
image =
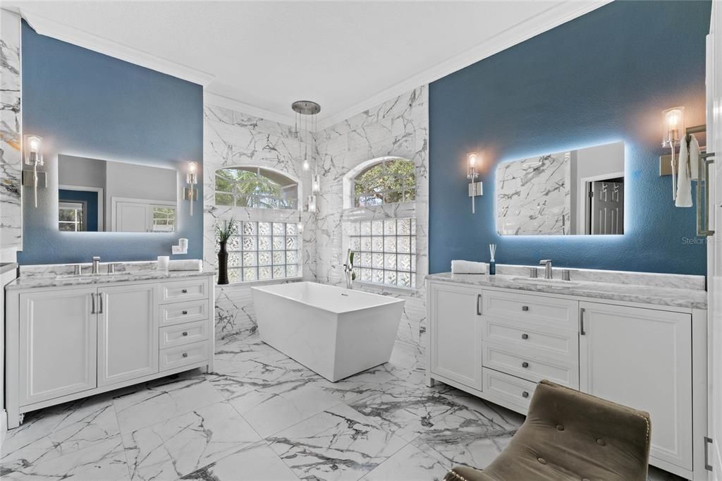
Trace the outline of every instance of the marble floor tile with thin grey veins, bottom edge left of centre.
<instances>
[{"instance_id":1,"label":"marble floor tile with thin grey veins, bottom edge left of centre","mask_svg":"<svg viewBox=\"0 0 722 481\"><path fill-rule=\"evenodd\" d=\"M227 402L123 433L133 480L176 479L258 441Z\"/></svg>"}]
</instances>

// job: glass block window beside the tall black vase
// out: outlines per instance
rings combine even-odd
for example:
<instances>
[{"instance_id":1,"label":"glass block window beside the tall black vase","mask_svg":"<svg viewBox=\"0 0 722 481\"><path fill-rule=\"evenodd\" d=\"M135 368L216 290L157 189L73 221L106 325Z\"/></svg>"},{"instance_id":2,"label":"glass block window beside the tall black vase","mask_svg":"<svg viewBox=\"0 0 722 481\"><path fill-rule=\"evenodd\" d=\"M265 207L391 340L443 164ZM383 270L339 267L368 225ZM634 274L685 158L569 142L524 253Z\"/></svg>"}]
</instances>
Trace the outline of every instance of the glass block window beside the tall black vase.
<instances>
[{"instance_id":1,"label":"glass block window beside the tall black vase","mask_svg":"<svg viewBox=\"0 0 722 481\"><path fill-rule=\"evenodd\" d=\"M216 239L216 252L219 248ZM301 275L300 242L295 222L238 222L226 250L229 282Z\"/></svg>"}]
</instances>

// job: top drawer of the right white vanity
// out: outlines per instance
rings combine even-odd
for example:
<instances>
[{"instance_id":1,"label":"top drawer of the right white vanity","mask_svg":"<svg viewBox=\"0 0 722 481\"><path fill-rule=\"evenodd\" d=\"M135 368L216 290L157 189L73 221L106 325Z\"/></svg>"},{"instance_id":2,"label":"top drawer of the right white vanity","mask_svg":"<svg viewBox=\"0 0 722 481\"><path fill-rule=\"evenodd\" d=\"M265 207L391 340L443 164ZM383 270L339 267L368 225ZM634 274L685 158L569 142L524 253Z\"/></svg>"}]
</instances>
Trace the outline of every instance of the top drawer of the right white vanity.
<instances>
[{"instance_id":1,"label":"top drawer of the right white vanity","mask_svg":"<svg viewBox=\"0 0 722 481\"><path fill-rule=\"evenodd\" d=\"M578 330L579 303L576 300L541 295L484 290L482 315L499 319Z\"/></svg>"}]
</instances>

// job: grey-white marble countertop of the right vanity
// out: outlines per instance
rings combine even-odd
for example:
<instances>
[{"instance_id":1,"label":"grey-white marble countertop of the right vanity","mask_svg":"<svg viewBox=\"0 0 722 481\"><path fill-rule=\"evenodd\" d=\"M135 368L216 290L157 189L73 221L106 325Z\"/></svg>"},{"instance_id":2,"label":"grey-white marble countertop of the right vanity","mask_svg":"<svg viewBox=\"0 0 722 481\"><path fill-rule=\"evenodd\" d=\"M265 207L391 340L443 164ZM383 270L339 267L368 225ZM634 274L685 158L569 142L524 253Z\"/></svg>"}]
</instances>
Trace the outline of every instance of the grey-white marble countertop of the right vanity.
<instances>
[{"instance_id":1,"label":"grey-white marble countertop of the right vanity","mask_svg":"<svg viewBox=\"0 0 722 481\"><path fill-rule=\"evenodd\" d=\"M503 287L536 293L574 295L582 298L622 300L630 303L655 304L686 309L706 309L707 291L681 287L660 287L653 285L632 285L617 282L590 282L572 280L569 285L544 285L515 280L518 276L505 274L430 274L426 278L434 281L458 282L479 287Z\"/></svg>"}]
</instances>

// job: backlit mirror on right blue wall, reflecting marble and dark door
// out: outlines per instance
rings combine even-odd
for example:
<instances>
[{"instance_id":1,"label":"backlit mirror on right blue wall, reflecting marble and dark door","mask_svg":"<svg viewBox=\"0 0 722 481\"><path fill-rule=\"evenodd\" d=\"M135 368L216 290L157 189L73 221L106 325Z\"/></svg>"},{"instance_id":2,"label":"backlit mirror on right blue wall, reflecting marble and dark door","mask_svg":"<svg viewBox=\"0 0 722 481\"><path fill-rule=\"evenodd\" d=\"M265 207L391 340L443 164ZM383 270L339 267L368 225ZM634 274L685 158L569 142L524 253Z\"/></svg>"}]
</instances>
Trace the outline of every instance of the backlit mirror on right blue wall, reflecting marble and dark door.
<instances>
[{"instance_id":1,"label":"backlit mirror on right blue wall, reflecting marble and dark door","mask_svg":"<svg viewBox=\"0 0 722 481\"><path fill-rule=\"evenodd\" d=\"M625 144L567 150L497 166L501 235L624 233Z\"/></svg>"}]
</instances>

